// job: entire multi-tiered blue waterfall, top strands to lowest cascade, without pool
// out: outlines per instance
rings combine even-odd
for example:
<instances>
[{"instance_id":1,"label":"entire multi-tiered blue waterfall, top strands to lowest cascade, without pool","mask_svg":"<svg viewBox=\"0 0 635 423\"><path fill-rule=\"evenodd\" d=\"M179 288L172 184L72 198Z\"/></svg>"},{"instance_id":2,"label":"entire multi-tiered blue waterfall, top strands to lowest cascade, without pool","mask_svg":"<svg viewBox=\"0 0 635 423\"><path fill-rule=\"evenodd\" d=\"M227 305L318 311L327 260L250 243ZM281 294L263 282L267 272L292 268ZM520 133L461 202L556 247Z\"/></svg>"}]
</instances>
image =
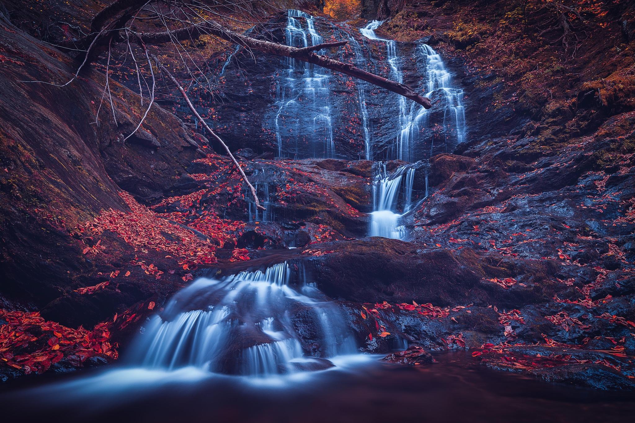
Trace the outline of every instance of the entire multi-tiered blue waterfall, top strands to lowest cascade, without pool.
<instances>
[{"instance_id":1,"label":"entire multi-tiered blue waterfall, top strands to lowest cascade, without pool","mask_svg":"<svg viewBox=\"0 0 635 423\"><path fill-rule=\"evenodd\" d=\"M389 77L401 82L403 58L398 43L375 34L380 24L373 21L361 29L364 36L361 41L344 31L337 34L340 37L346 34L354 53L352 62L362 68L369 68L371 63L366 41L384 44ZM323 42L316 29L316 18L297 10L288 11L284 36L286 44L296 47ZM399 125L391 148L382 152L386 159L425 160L436 151L434 143L442 143L445 150L451 150L465 138L462 91L451 86L443 60L426 44L417 44L413 55L424 75L421 88L435 102L434 107L444 110L443 139L439 140L439 134L426 133L432 117L424 108L403 96L388 94L390 101L396 101L399 116L394 119L398 119ZM230 62L231 57L222 72ZM329 71L322 68L293 58L283 61L276 80L275 105L280 156L295 157L302 150L311 151L313 157L333 157L330 78ZM359 134L364 138L364 157L372 160L373 131L366 107L368 89L370 86L365 82L356 84L362 127ZM432 137L429 148L418 151L427 136ZM311 146L308 150L307 145ZM393 171L388 169L386 162L378 164L373 180L370 235L404 239L407 234L401 218L415 203L415 172L424 171L427 178L427 166L410 163ZM250 204L249 221L276 219L265 176L258 170L252 178L267 211L259 212ZM301 267L284 262L229 277L196 280L178 292L160 314L150 318L144 333L138 335L129 360L144 368L197 367L206 372L234 375L319 370L332 365L330 358L359 353L347 319L342 306L310 283Z\"/></svg>"}]
</instances>

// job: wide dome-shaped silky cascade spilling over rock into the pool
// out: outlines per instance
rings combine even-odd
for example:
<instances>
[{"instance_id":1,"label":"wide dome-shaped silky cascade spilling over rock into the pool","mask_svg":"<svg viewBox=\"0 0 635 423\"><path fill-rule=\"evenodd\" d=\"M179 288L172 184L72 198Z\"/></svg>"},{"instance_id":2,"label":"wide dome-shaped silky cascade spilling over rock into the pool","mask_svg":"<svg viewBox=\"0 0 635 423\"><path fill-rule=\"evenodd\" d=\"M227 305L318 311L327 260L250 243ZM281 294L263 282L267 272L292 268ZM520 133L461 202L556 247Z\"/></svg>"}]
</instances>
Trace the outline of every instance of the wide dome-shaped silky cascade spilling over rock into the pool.
<instances>
[{"instance_id":1,"label":"wide dome-shaped silky cascade spilling over rock into the pool","mask_svg":"<svg viewBox=\"0 0 635 423\"><path fill-rule=\"evenodd\" d=\"M313 337L305 333L311 330ZM303 370L311 360L328 367L326 359L357 352L340 306L284 262L196 280L150 318L130 360L146 368L266 376Z\"/></svg>"}]
</instances>

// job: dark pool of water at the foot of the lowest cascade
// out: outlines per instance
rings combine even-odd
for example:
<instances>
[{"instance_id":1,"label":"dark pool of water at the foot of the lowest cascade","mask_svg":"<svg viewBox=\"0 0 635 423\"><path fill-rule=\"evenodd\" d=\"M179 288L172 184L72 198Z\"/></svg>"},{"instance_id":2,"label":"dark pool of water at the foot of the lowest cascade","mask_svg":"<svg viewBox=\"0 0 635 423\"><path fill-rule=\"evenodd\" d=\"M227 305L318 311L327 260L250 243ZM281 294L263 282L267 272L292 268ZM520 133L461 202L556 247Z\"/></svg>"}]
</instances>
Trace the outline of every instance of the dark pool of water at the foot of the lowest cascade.
<instances>
[{"instance_id":1,"label":"dark pool of water at the foot of the lowest cascade","mask_svg":"<svg viewBox=\"0 0 635 423\"><path fill-rule=\"evenodd\" d=\"M635 412L604 393L495 372L467 353L403 367L377 356L271 378L108 367L6 384L3 421L65 422L608 422ZM34 385L34 383L36 385Z\"/></svg>"}]
</instances>

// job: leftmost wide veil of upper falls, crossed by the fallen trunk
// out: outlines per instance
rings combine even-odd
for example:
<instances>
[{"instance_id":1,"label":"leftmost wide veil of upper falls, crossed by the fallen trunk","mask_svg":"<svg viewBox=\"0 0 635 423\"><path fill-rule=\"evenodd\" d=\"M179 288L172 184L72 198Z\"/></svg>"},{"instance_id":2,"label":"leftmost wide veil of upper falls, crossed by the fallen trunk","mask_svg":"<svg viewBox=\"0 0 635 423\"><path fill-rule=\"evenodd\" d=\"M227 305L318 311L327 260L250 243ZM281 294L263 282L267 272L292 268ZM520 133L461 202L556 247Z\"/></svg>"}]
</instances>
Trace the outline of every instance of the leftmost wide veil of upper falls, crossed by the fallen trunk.
<instances>
[{"instance_id":1,"label":"leftmost wide veil of upper falls, crossed by the fallen trunk","mask_svg":"<svg viewBox=\"0 0 635 423\"><path fill-rule=\"evenodd\" d=\"M286 45L293 47L323 42L315 18L299 10L288 11L284 38ZM298 148L305 143L312 146L313 157L335 154L329 80L330 74L324 68L294 58L284 59L276 84L274 119L279 157L297 156Z\"/></svg>"}]
</instances>

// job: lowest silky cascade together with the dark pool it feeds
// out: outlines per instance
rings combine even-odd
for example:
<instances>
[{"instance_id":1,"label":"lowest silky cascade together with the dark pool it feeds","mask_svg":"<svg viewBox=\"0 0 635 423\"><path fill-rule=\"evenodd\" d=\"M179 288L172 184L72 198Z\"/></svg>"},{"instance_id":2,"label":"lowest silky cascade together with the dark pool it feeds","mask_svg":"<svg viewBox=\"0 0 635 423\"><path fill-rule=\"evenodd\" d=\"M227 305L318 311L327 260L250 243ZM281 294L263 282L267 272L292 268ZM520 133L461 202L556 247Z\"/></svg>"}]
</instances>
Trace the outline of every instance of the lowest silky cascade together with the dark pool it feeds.
<instances>
[{"instance_id":1,"label":"lowest silky cascade together with the dark pool it feeds","mask_svg":"<svg viewBox=\"0 0 635 423\"><path fill-rule=\"evenodd\" d=\"M0 386L3 421L595 423L635 412L628 394L495 372L463 351L384 363L359 351L347 321L296 264L199 278L143 323L121 363Z\"/></svg>"}]
</instances>

